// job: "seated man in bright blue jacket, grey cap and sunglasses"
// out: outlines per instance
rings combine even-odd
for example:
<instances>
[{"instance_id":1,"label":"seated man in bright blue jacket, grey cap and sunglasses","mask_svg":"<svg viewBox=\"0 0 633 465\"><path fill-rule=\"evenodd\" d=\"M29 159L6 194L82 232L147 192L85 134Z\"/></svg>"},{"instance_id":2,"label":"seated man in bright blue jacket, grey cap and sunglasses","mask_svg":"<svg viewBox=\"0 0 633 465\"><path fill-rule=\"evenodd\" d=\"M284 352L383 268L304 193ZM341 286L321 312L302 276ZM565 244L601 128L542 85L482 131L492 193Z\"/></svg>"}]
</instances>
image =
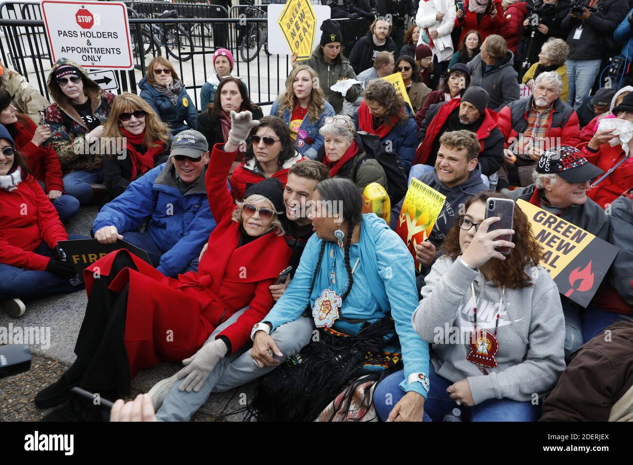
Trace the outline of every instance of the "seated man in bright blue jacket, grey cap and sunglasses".
<instances>
[{"instance_id":1,"label":"seated man in bright blue jacket, grey cap and sunglasses","mask_svg":"<svg viewBox=\"0 0 633 465\"><path fill-rule=\"evenodd\" d=\"M132 182L97 214L95 239L102 244L123 239L140 247L165 276L197 271L200 251L216 225L204 186L207 163L205 137L194 130L178 133L167 162ZM137 232L147 216L147 231Z\"/></svg>"}]
</instances>

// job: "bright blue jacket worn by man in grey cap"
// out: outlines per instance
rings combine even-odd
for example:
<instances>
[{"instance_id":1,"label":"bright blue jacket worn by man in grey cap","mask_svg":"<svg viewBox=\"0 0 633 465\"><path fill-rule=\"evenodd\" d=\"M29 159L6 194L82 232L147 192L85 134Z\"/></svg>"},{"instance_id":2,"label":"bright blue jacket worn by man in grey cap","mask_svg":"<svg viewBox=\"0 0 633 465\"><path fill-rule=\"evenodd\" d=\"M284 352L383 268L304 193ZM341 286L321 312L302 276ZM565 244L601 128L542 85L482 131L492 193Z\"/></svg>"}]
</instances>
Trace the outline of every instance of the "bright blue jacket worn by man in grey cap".
<instances>
[{"instance_id":1,"label":"bright blue jacket worn by man in grey cap","mask_svg":"<svg viewBox=\"0 0 633 465\"><path fill-rule=\"evenodd\" d=\"M204 187L204 175L185 194L180 194L173 177L172 161L160 164L128 185L123 194L107 203L94 220L92 233L104 226L116 226L125 240L151 216L147 232L163 249L158 271L175 277L196 258L215 228Z\"/></svg>"}]
</instances>

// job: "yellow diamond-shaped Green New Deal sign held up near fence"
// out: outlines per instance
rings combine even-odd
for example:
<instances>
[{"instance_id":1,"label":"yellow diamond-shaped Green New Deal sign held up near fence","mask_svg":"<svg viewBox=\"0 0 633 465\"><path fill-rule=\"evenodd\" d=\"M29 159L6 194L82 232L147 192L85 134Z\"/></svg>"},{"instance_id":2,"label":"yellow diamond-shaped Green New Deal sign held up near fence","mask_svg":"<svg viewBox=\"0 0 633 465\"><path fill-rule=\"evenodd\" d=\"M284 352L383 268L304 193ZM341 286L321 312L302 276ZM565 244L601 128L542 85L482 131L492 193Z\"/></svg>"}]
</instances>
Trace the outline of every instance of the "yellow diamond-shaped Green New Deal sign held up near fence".
<instances>
[{"instance_id":1,"label":"yellow diamond-shaped Green New Deal sign held up near fence","mask_svg":"<svg viewBox=\"0 0 633 465\"><path fill-rule=\"evenodd\" d=\"M316 30L316 15L310 0L289 0L277 24L297 59L310 58Z\"/></svg>"}]
</instances>

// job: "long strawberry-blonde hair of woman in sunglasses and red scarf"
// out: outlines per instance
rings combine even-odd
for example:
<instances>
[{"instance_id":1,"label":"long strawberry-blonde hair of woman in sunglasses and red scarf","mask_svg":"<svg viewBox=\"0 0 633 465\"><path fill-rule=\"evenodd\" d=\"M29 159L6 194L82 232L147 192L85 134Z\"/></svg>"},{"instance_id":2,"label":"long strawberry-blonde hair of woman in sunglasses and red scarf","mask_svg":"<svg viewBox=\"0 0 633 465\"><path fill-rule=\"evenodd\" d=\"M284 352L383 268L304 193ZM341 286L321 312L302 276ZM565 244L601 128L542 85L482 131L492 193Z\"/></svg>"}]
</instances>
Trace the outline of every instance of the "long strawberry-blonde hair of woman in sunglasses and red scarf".
<instances>
[{"instance_id":1,"label":"long strawberry-blonde hair of woman in sunglasses and red scarf","mask_svg":"<svg viewBox=\"0 0 633 465\"><path fill-rule=\"evenodd\" d=\"M143 146L146 148L155 147L156 140L160 140L169 145L169 134L165 123L158 118L158 115L154 110L136 94L130 94L130 92L123 92L115 97L110 108L110 115L108 120L103 125L103 137L123 137L120 128L119 116L121 113L134 113L136 110L142 110L145 112L145 139L143 139ZM110 147L110 144L107 144ZM110 152L106 147L106 152Z\"/></svg>"}]
</instances>

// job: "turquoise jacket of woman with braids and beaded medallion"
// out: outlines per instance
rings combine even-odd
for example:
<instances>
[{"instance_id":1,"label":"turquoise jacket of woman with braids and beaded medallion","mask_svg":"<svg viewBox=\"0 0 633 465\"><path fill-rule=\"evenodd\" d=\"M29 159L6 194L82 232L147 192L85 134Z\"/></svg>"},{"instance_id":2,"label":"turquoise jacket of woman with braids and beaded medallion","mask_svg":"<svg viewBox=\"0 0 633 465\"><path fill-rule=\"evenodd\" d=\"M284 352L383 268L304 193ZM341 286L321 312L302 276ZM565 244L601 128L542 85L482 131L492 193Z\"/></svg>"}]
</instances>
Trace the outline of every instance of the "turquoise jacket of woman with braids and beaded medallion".
<instances>
[{"instance_id":1,"label":"turquoise jacket of woman with braids and beaded medallion","mask_svg":"<svg viewBox=\"0 0 633 465\"><path fill-rule=\"evenodd\" d=\"M310 308L314 306L322 290L329 285L332 262L336 275L336 282L332 283L333 290L341 295L343 288L346 288L348 273L344 254L335 242L326 242L320 271L310 294L322 242L316 234L310 237L290 285L263 319L272 325L273 331L299 318L308 304ZM330 257L330 251L334 252L334 258ZM411 325L411 316L419 303L413 257L403 240L373 213L363 214L360 242L349 249L349 264L352 268L358 257L360 261L354 271L354 282L342 304L341 316L373 322L391 312L403 352L404 381L401 388L405 392L414 391L426 397L427 391L422 383L408 385L406 381L411 373L429 374L429 344L415 333ZM337 323L334 328L337 328ZM344 330L342 325L338 327Z\"/></svg>"}]
</instances>

